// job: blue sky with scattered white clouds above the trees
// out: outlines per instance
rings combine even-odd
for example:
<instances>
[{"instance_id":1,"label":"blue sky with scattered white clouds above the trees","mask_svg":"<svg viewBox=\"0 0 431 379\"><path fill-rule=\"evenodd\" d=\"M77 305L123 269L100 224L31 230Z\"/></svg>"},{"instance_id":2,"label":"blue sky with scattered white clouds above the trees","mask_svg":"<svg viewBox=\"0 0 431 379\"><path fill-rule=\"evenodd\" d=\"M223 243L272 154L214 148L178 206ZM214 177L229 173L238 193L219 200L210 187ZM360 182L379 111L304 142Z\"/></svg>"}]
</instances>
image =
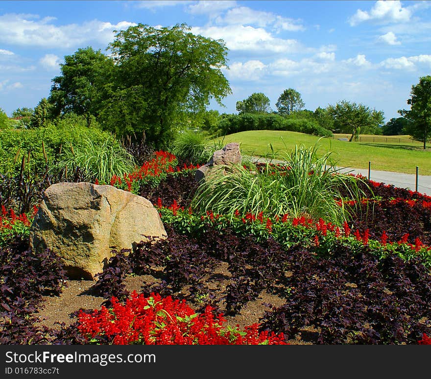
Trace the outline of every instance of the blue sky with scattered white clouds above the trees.
<instances>
[{"instance_id":1,"label":"blue sky with scattered white clouds above the trees","mask_svg":"<svg viewBox=\"0 0 431 379\"><path fill-rule=\"evenodd\" d=\"M314 111L339 100L408 109L411 86L431 74L431 1L0 1L0 108L9 116L48 97L64 56L105 51L113 30L188 24L229 48L225 108L296 89Z\"/></svg>"}]
</instances>

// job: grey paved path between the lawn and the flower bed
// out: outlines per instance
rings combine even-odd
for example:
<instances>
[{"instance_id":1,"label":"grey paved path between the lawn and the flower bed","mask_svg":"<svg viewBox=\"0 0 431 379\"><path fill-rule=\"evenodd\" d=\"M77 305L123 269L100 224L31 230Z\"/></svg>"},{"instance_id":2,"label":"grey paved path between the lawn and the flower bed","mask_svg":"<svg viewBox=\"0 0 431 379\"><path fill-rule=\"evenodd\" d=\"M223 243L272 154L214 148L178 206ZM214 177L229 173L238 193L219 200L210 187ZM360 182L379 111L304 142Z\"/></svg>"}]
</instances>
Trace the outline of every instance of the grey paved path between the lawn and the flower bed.
<instances>
[{"instance_id":1,"label":"grey paved path between the lawn and the flower bed","mask_svg":"<svg viewBox=\"0 0 431 379\"><path fill-rule=\"evenodd\" d=\"M253 157L255 161L264 162L264 158ZM273 162L283 162L275 161ZM361 174L368 178L368 168L343 168L340 169L341 172L351 172L353 174ZM416 188L416 175L415 174L403 174L400 172L390 172L390 171L370 171L370 179L375 182L383 182L385 184L393 184L395 187L408 188L414 191ZM424 193L431 196L431 176L430 175L418 175L418 192Z\"/></svg>"}]
</instances>

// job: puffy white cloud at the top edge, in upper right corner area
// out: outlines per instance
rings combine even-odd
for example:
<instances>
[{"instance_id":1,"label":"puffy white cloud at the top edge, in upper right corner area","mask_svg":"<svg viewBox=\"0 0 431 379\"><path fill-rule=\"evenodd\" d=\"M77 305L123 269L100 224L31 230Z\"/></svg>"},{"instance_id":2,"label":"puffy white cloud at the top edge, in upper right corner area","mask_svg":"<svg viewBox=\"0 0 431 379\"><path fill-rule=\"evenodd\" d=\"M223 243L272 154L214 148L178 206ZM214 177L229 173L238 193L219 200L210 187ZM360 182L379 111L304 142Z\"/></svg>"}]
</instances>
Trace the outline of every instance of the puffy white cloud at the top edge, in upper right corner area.
<instances>
[{"instance_id":1,"label":"puffy white cloud at the top edge, in upper right corner area","mask_svg":"<svg viewBox=\"0 0 431 379\"><path fill-rule=\"evenodd\" d=\"M369 12L358 9L350 19L349 23L352 26L365 21L379 21L384 23L391 22L408 22L412 11L410 8L403 8L399 0L379 0Z\"/></svg>"}]
</instances>

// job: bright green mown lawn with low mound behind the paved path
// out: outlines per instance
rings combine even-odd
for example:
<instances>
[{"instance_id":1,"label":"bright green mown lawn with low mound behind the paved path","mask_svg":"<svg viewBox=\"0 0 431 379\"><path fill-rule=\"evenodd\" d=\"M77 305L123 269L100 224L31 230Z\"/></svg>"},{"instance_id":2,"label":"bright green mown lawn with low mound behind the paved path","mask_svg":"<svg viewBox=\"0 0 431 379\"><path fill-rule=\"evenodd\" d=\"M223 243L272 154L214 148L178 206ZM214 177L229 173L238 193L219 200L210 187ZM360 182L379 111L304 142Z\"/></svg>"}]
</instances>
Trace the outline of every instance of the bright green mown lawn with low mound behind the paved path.
<instances>
[{"instance_id":1,"label":"bright green mown lawn with low mound behind the paved path","mask_svg":"<svg viewBox=\"0 0 431 379\"><path fill-rule=\"evenodd\" d=\"M388 138L388 142L372 142L370 136L363 138L367 142L347 142L323 138L318 143L318 152L333 151L333 157L338 160L338 166L353 168L368 168L368 161L374 170L404 172L413 174L416 166L420 175L431 175L431 149L423 150L420 142L408 142L407 136ZM376 136L382 139L384 136ZM371 136L371 139L373 136ZM398 142L402 138L402 142ZM319 137L309 134L274 131L253 130L228 135L224 142L239 142L242 152L255 156L269 156L272 145L274 151L294 148L295 144L304 144L306 147L314 145ZM390 142L389 142L390 140ZM368 142L371 141L371 142Z\"/></svg>"}]
</instances>

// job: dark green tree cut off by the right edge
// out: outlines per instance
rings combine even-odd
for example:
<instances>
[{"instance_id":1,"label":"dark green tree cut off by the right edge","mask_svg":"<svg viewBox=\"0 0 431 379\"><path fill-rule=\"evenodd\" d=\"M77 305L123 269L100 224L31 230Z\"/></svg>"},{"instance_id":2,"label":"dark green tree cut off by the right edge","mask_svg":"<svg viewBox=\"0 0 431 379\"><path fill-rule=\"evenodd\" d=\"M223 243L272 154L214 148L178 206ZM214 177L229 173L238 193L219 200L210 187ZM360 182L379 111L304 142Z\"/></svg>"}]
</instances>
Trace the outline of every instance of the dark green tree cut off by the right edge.
<instances>
[{"instance_id":1,"label":"dark green tree cut off by the right edge","mask_svg":"<svg viewBox=\"0 0 431 379\"><path fill-rule=\"evenodd\" d=\"M419 83L411 86L411 97L407 99L410 110L399 110L398 113L407 118L409 123L406 133L415 140L424 142L431 138L431 75L419 78Z\"/></svg>"}]
</instances>

